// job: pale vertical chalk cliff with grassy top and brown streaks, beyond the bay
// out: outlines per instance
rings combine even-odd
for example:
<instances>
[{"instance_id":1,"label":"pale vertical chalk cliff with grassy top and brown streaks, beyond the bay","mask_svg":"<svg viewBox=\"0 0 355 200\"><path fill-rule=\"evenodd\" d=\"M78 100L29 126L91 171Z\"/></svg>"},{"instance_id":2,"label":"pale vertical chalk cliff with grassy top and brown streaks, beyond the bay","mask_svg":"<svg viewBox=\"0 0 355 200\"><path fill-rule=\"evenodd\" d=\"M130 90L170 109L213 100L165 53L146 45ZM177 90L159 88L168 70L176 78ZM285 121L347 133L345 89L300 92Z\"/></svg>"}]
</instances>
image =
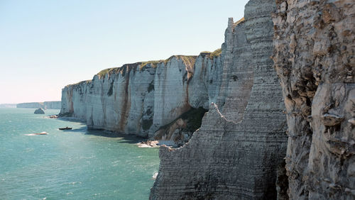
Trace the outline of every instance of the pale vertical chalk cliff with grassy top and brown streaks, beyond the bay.
<instances>
[{"instance_id":1,"label":"pale vertical chalk cliff with grassy top and brown streaks, beyond the bay","mask_svg":"<svg viewBox=\"0 0 355 200\"><path fill-rule=\"evenodd\" d=\"M189 127L194 124L183 114L200 107L208 109L215 101L221 66L221 56L202 53L100 72L91 81L62 89L60 116L80 118L89 128L188 140L194 131Z\"/></svg>"}]
</instances>

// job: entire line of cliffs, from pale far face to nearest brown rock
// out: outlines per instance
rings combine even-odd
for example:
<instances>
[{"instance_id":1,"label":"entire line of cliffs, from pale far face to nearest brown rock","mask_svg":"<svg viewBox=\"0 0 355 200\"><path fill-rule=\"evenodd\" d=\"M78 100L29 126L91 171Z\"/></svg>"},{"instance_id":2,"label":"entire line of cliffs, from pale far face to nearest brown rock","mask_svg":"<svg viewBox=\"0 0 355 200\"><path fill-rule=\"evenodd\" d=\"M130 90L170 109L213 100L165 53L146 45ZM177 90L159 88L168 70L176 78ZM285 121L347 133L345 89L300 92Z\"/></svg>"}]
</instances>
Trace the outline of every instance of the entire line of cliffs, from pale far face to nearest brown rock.
<instances>
[{"instance_id":1,"label":"entire line of cliffs, from pale far face to nearest brown rock","mask_svg":"<svg viewBox=\"0 0 355 200\"><path fill-rule=\"evenodd\" d=\"M350 0L251 0L221 50L103 70L60 116L182 145L150 199L355 199L354 23Z\"/></svg>"}]
</instances>

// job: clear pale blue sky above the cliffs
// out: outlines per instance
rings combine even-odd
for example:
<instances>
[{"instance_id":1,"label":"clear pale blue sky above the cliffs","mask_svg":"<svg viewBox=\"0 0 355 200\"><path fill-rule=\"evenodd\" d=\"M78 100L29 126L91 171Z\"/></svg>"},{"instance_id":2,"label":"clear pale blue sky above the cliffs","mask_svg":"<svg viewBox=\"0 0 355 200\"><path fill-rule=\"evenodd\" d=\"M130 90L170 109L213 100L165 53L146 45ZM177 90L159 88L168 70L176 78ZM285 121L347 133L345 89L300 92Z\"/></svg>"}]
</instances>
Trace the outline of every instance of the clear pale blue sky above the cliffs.
<instances>
[{"instance_id":1,"label":"clear pale blue sky above the cliffs","mask_svg":"<svg viewBox=\"0 0 355 200\"><path fill-rule=\"evenodd\" d=\"M0 0L0 104L60 101L67 84L224 42L247 0Z\"/></svg>"}]
</instances>

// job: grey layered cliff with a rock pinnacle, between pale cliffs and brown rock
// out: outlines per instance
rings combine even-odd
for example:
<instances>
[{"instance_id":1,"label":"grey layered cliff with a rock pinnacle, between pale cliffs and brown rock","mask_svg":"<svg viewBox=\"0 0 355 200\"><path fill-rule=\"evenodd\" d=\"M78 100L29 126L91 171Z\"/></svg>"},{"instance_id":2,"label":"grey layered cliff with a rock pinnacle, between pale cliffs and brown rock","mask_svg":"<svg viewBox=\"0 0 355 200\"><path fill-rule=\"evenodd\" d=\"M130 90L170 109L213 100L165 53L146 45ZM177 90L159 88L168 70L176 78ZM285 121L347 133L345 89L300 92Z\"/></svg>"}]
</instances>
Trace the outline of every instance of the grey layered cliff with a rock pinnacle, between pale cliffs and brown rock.
<instances>
[{"instance_id":1,"label":"grey layered cliff with a rock pinnacle, between pale cliffs and brown rock","mask_svg":"<svg viewBox=\"0 0 355 200\"><path fill-rule=\"evenodd\" d=\"M160 147L151 199L275 199L287 136L283 97L273 68L273 0L246 4L229 19L222 82L202 126L182 148ZM278 169L281 169L278 172Z\"/></svg>"}]
</instances>

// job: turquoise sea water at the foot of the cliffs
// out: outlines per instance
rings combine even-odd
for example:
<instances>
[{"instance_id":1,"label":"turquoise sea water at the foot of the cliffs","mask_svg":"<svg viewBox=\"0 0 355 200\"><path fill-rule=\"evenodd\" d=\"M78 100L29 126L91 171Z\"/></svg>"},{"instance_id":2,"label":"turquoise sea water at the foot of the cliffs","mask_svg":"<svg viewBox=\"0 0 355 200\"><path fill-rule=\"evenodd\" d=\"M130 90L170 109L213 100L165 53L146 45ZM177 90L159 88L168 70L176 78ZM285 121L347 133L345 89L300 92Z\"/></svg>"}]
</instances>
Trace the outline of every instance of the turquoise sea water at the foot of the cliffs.
<instances>
[{"instance_id":1,"label":"turquoise sea water at the foot of the cliffs","mask_svg":"<svg viewBox=\"0 0 355 200\"><path fill-rule=\"evenodd\" d=\"M0 199L148 199L157 148L34 110L0 109Z\"/></svg>"}]
</instances>

